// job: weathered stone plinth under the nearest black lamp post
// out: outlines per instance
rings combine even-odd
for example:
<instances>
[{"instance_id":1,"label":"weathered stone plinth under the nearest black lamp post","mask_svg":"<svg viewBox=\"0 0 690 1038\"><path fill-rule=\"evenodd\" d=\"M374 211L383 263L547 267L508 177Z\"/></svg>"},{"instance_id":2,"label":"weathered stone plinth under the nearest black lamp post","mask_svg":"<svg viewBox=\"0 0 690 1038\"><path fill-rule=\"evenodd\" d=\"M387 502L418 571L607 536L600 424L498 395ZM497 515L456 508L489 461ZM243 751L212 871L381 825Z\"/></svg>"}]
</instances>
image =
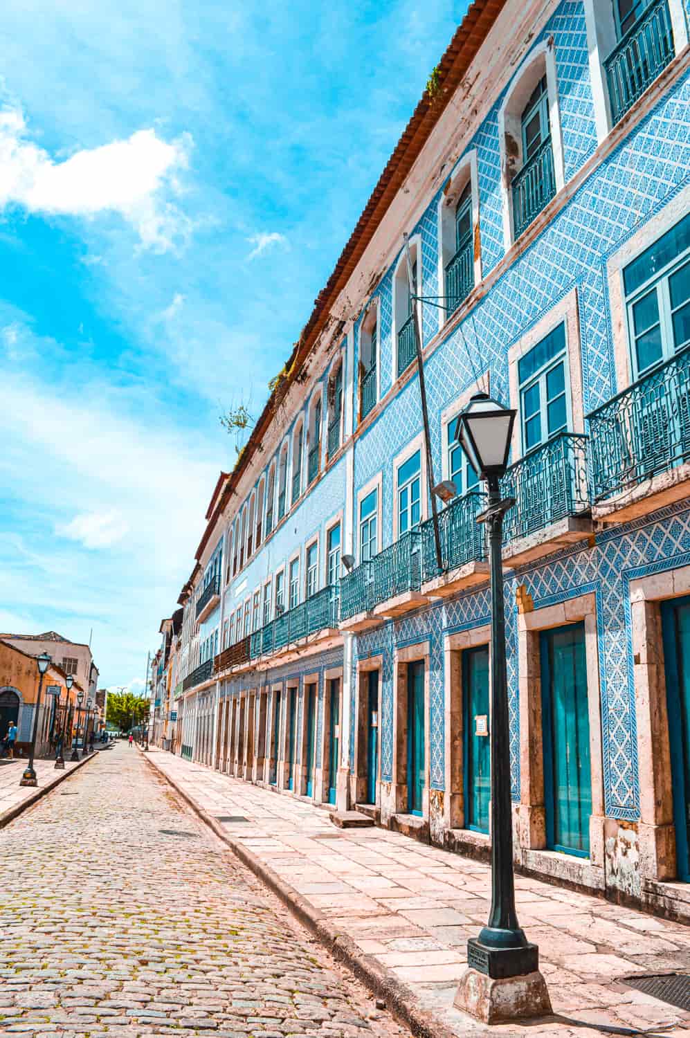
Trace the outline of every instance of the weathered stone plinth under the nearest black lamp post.
<instances>
[{"instance_id":1,"label":"weathered stone plinth under the nearest black lamp post","mask_svg":"<svg viewBox=\"0 0 690 1038\"><path fill-rule=\"evenodd\" d=\"M552 1012L546 981L539 969L497 978L470 967L461 978L453 1005L482 1023L505 1023Z\"/></svg>"}]
</instances>

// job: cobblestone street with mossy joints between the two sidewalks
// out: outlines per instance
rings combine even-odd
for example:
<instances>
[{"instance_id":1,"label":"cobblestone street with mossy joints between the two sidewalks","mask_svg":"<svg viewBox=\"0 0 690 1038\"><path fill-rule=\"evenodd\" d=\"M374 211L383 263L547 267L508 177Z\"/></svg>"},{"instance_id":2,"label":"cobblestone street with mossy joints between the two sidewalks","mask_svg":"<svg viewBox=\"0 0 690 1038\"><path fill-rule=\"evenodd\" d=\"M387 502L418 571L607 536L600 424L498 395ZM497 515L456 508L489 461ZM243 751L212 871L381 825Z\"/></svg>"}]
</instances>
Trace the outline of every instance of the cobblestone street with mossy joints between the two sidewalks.
<instances>
[{"instance_id":1,"label":"cobblestone street with mossy joints between the two sidewalks","mask_svg":"<svg viewBox=\"0 0 690 1038\"><path fill-rule=\"evenodd\" d=\"M2 830L0 1034L408 1034L119 743Z\"/></svg>"}]
</instances>

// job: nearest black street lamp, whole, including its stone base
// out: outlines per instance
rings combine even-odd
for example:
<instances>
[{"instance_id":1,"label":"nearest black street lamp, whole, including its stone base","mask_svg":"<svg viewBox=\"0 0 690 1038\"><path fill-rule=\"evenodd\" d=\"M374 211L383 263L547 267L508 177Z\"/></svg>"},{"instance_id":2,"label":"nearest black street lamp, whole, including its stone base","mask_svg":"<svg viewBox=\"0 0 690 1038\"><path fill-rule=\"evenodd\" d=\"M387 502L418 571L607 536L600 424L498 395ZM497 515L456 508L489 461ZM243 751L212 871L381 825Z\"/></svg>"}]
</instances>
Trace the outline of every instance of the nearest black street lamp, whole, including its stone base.
<instances>
[{"instance_id":1,"label":"nearest black street lamp, whole, including its stone base","mask_svg":"<svg viewBox=\"0 0 690 1038\"><path fill-rule=\"evenodd\" d=\"M501 499L516 412L488 393L476 393L461 414L458 439L476 472L487 481L489 503L478 517L489 527L491 572L491 911L478 937L467 943L468 971L456 1006L485 1022L550 1012L539 948L518 923L513 874L510 747L505 666L503 514L515 504ZM498 989L501 989L499 994Z\"/></svg>"}]
</instances>

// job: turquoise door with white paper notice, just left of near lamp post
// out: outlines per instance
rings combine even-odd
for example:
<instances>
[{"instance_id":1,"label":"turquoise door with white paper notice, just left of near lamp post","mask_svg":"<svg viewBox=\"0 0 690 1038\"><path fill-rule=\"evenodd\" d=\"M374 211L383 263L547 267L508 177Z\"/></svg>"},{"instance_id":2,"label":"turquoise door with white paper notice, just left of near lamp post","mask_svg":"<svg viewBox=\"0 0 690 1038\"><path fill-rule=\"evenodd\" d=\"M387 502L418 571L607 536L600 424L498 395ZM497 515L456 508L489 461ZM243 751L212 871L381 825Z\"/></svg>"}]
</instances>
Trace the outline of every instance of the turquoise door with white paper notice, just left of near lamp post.
<instances>
[{"instance_id":1,"label":"turquoise door with white paper notice, just left of near lamp post","mask_svg":"<svg viewBox=\"0 0 690 1038\"><path fill-rule=\"evenodd\" d=\"M489 734L489 646L463 653L465 826L489 832L491 737Z\"/></svg>"}]
</instances>

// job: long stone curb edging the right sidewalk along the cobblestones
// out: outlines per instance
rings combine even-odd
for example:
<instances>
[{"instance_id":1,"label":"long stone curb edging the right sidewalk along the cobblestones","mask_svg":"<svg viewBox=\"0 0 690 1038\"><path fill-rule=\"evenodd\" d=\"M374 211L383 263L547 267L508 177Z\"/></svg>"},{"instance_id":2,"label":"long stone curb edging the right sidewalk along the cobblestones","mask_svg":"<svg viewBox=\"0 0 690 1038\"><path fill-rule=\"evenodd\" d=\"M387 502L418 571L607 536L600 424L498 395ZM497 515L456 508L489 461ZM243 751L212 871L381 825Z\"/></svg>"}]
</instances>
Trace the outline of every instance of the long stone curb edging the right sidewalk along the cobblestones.
<instances>
[{"instance_id":1,"label":"long stone curb edging the right sidewalk along the cobblestones","mask_svg":"<svg viewBox=\"0 0 690 1038\"><path fill-rule=\"evenodd\" d=\"M386 1003L386 1008L399 1020L405 1022L414 1035L417 1035L418 1038L458 1038L458 1035L444 1027L440 1020L419 1007L413 992L394 974L382 965L375 956L365 955L361 952L352 937L340 933L318 908L281 879L256 854L233 840L200 803L197 803L174 778L171 778L163 768L159 767L155 760L148 757L143 750L140 750L140 753L148 766L172 786L183 800L230 848L242 864L280 898L283 904L315 935L334 958L340 962L344 962L376 998L383 999ZM468 1032L468 1038L469 1034ZM476 1031L475 1034L478 1036L479 1034L486 1034L486 1032Z\"/></svg>"}]
</instances>

